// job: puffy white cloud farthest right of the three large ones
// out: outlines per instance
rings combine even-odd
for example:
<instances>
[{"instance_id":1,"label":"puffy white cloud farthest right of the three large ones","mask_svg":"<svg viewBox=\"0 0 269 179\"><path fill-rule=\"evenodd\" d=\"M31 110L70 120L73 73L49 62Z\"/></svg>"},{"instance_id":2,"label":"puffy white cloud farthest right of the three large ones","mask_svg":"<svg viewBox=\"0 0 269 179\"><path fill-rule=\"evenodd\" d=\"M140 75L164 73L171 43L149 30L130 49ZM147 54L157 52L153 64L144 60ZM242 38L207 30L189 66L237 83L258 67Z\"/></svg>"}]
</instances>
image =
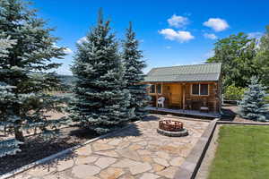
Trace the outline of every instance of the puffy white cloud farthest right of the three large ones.
<instances>
[{"instance_id":1,"label":"puffy white cloud farthest right of the three large ones","mask_svg":"<svg viewBox=\"0 0 269 179\"><path fill-rule=\"evenodd\" d=\"M227 21L220 18L210 18L208 21L204 21L203 24L204 26L212 28L215 31L227 30L229 28Z\"/></svg>"}]
</instances>

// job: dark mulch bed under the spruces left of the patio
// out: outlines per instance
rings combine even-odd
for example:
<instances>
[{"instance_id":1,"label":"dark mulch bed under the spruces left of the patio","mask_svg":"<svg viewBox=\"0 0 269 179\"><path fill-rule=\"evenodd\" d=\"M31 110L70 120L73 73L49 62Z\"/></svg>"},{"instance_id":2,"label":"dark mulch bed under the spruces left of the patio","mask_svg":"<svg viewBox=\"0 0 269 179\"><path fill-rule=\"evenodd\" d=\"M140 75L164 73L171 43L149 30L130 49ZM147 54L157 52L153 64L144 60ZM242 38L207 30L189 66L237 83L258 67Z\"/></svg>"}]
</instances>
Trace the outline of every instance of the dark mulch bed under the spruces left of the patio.
<instances>
[{"instance_id":1,"label":"dark mulch bed under the spruces left of the patio","mask_svg":"<svg viewBox=\"0 0 269 179\"><path fill-rule=\"evenodd\" d=\"M29 165L42 158L56 154L64 149L82 144L98 135L77 127L67 127L61 130L60 135L53 141L44 141L36 136L30 136L21 146L22 152L14 156L0 158L0 175L11 172L16 168Z\"/></svg>"}]
</instances>

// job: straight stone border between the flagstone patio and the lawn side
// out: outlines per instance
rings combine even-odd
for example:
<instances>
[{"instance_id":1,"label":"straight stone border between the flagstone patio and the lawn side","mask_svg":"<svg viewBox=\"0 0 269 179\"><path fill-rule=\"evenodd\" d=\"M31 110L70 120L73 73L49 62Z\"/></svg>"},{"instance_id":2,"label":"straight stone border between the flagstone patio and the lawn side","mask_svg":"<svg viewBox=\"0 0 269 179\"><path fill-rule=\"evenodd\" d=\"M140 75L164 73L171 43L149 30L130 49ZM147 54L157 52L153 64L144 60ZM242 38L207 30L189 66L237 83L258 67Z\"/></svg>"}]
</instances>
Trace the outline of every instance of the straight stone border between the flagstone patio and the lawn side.
<instances>
[{"instance_id":1,"label":"straight stone border between the flagstone patio and the lawn side","mask_svg":"<svg viewBox=\"0 0 269 179\"><path fill-rule=\"evenodd\" d=\"M215 131L218 120L219 119L216 118L209 124L201 138L195 144L195 147L187 155L186 160L181 164L181 166L179 166L178 171L174 175L174 179L195 178L209 143L212 140L213 132Z\"/></svg>"}]
</instances>

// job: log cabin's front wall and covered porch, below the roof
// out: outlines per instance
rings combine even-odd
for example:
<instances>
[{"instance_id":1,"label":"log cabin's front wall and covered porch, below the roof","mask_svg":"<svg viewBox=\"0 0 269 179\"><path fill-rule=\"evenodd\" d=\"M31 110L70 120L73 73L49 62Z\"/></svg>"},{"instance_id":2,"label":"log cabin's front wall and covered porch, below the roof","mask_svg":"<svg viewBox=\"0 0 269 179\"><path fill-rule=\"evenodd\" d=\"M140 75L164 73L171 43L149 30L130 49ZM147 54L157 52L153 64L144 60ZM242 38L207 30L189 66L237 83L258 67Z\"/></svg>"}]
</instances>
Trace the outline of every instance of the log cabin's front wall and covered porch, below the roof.
<instances>
[{"instance_id":1,"label":"log cabin's front wall and covered porch, below the roof","mask_svg":"<svg viewBox=\"0 0 269 179\"><path fill-rule=\"evenodd\" d=\"M152 101L148 110L183 115L219 116L221 109L218 82L147 82ZM158 98L165 98L163 107ZM203 110L205 109L205 110Z\"/></svg>"}]
</instances>

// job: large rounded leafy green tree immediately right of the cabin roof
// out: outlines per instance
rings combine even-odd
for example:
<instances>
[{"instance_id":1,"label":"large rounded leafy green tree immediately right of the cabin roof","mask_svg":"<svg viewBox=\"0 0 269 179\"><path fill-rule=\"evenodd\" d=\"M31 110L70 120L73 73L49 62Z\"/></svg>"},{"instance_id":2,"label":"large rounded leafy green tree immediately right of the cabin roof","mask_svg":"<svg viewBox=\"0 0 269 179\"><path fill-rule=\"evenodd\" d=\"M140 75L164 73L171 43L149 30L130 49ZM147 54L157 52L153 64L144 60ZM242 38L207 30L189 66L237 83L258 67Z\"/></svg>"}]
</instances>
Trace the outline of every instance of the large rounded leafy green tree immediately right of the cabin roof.
<instances>
[{"instance_id":1,"label":"large rounded leafy green tree immediately right of the cabin roof","mask_svg":"<svg viewBox=\"0 0 269 179\"><path fill-rule=\"evenodd\" d=\"M215 43L214 56L208 63L222 63L224 90L232 84L246 87L251 76L259 70L254 64L256 40L249 39L245 33L230 35Z\"/></svg>"}]
</instances>

